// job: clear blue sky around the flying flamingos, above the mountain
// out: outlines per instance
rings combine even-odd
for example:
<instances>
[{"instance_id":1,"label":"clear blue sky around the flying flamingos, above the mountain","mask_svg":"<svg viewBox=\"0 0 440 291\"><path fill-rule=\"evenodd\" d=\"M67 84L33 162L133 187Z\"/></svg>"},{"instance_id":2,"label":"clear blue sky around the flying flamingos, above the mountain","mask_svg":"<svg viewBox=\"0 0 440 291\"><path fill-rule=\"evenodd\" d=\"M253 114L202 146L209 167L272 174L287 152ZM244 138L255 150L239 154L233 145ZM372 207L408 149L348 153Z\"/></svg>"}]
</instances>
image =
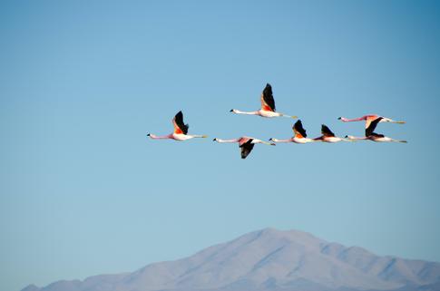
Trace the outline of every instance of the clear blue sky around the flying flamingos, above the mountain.
<instances>
[{"instance_id":1,"label":"clear blue sky around the flying flamingos, above the mountain","mask_svg":"<svg viewBox=\"0 0 440 291\"><path fill-rule=\"evenodd\" d=\"M0 289L133 271L259 228L440 261L435 1L2 1ZM257 145L378 113L407 144ZM182 110L190 133L151 141Z\"/></svg>"}]
</instances>

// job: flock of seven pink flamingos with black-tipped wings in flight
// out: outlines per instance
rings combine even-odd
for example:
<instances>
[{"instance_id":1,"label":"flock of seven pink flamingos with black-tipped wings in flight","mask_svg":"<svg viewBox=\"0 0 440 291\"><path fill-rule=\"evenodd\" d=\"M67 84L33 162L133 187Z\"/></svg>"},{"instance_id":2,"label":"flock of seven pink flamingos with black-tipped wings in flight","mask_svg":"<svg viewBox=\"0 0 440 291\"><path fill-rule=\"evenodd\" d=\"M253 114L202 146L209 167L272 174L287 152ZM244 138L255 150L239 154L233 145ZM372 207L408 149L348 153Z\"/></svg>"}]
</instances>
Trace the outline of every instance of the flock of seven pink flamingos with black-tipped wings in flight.
<instances>
[{"instance_id":1,"label":"flock of seven pink flamingos with black-tipped wings in flight","mask_svg":"<svg viewBox=\"0 0 440 291\"><path fill-rule=\"evenodd\" d=\"M288 117L297 119L297 116L287 115L284 113L276 112L275 111L275 100L273 99L273 93L272 93L272 87L268 83L266 87L264 88L263 92L261 93L261 109L256 112L241 112L236 109L231 109L230 112L236 113L236 114L247 114L247 115L259 115L261 117L266 118L272 118L272 117ZM394 121L392 119L379 116L376 114L370 114L365 115L356 119L347 119L345 117L339 117L338 120L343 122L351 122L351 121L366 121L366 130L365 130L365 136L364 137L355 137L351 135L346 135L345 138L337 137L335 133L330 131L328 126L325 124L322 124L321 126L321 136L318 138L310 139L307 137L306 130L302 126L302 122L298 120L293 125L293 133L294 136L287 140L279 140L279 139L269 139L268 141L262 141L259 139L255 139L252 137L242 136L238 139L232 139L232 140L221 140L215 138L213 141L217 141L220 143L226 143L226 142L238 142L239 147L241 150L241 159L246 159L248 157L250 151L254 148L254 145L256 143L261 144L267 144L267 145L276 145L277 142L295 142L295 143L308 143L308 142L338 142L338 141L363 141L363 140L369 140L369 141L377 141L377 142L406 142L406 141L399 141L395 140L389 137L386 137L383 134L376 133L376 126L379 122L392 122L392 123L405 123L405 121ZM207 138L206 135L197 135L197 134L188 134L189 125L185 124L183 121L183 113L178 112L176 116L172 119L172 124L174 125L174 131L171 134L164 135L164 136L157 136L151 133L148 133L147 136L149 136L153 140L175 140L175 141L187 141L194 138Z\"/></svg>"}]
</instances>

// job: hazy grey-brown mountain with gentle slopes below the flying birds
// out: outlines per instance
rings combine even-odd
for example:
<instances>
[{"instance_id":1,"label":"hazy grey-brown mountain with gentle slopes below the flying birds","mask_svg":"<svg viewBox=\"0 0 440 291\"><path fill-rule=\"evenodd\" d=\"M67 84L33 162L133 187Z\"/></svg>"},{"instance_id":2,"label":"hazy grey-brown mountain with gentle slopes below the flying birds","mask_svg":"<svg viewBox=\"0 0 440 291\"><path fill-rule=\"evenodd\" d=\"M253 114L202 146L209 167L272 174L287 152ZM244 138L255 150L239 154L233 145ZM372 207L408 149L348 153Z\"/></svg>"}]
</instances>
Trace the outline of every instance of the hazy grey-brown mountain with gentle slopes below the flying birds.
<instances>
[{"instance_id":1,"label":"hazy grey-brown mountain with gentle slopes below the flying birds","mask_svg":"<svg viewBox=\"0 0 440 291\"><path fill-rule=\"evenodd\" d=\"M177 261L22 291L435 291L440 263L379 257L306 232L251 232Z\"/></svg>"}]
</instances>

